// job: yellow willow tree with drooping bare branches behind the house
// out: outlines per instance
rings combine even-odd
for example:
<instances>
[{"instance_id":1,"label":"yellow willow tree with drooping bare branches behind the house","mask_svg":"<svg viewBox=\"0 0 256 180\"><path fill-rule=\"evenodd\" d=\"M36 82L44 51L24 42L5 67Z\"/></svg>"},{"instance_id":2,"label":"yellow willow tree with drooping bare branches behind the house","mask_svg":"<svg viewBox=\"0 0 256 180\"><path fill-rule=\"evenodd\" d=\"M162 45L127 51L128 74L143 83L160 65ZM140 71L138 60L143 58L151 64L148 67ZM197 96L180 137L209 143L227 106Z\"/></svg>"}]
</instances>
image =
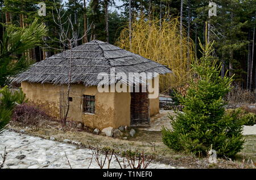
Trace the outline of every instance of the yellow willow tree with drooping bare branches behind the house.
<instances>
[{"instance_id":1,"label":"yellow willow tree with drooping bare branches behind the house","mask_svg":"<svg viewBox=\"0 0 256 180\"><path fill-rule=\"evenodd\" d=\"M165 16L161 23L157 18L148 20L144 15L134 18L131 24L131 48L129 28L121 31L115 45L171 68L173 74L159 78L160 92L181 87L190 79L193 41L184 30L180 33L178 18Z\"/></svg>"}]
</instances>

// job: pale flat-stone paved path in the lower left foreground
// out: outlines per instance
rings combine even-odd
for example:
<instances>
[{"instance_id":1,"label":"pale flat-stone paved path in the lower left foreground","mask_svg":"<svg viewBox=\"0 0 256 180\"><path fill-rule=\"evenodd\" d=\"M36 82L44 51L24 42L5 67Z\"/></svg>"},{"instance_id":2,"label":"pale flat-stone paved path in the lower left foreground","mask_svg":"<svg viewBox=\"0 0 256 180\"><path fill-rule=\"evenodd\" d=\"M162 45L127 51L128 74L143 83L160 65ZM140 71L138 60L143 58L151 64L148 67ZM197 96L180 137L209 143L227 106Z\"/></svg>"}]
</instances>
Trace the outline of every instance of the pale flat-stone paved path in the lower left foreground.
<instances>
[{"instance_id":1,"label":"pale flat-stone paved path in the lower left foreground","mask_svg":"<svg viewBox=\"0 0 256 180\"><path fill-rule=\"evenodd\" d=\"M90 149L79 149L76 145L28 136L9 130L0 134L0 153L3 154L5 147L8 154L4 168L70 168L65 153L72 168L88 168L92 160ZM118 158L119 161L123 160L122 157ZM2 162L1 156L0 162ZM94 158L89 168L99 168ZM110 168L119 169L115 157L112 158ZM148 168L174 167L166 164L150 164Z\"/></svg>"}]
</instances>

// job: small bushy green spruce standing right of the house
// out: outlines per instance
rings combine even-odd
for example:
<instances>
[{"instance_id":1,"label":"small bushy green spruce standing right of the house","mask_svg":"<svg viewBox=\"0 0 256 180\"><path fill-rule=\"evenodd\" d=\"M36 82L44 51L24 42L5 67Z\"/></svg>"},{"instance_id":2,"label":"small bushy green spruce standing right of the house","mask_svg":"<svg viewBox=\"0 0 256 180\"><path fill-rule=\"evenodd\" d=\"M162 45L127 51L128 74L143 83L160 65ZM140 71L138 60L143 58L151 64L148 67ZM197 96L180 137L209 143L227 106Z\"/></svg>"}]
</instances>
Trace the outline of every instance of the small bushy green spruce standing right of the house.
<instances>
[{"instance_id":1,"label":"small bushy green spruce standing right of the house","mask_svg":"<svg viewBox=\"0 0 256 180\"><path fill-rule=\"evenodd\" d=\"M232 157L240 152L244 139L243 122L237 118L238 112L225 113L224 96L230 91L232 78L219 76L221 66L210 55L207 44L200 63L192 65L196 80L192 79L187 95L178 95L183 112L176 112L172 119L172 129L162 128L163 143L175 151L185 151L196 155L206 155L215 149L218 156Z\"/></svg>"}]
</instances>

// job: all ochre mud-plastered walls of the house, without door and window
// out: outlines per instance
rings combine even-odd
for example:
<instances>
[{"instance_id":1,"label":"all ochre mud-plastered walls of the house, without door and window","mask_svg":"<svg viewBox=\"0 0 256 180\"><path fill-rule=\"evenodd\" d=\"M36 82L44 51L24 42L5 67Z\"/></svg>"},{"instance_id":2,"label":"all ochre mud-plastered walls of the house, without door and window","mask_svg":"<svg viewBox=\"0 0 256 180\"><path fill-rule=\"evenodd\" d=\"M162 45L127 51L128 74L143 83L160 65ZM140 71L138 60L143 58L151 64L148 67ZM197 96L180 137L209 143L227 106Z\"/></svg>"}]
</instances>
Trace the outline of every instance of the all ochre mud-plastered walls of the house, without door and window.
<instances>
[{"instance_id":1,"label":"all ochre mud-plastered walls of the house, without door and window","mask_svg":"<svg viewBox=\"0 0 256 180\"><path fill-rule=\"evenodd\" d=\"M63 105L61 99L67 99L67 85L22 82L22 89L30 101L42 106L49 115L60 118L60 102ZM82 113L82 95L95 96L95 114ZM86 126L100 130L109 126L114 128L130 126L129 92L100 93L96 86L84 87L82 84L72 84L69 97L73 100L70 101L68 120L82 121ZM61 109L65 111L66 108ZM159 98L150 99L150 116L158 113Z\"/></svg>"}]
</instances>

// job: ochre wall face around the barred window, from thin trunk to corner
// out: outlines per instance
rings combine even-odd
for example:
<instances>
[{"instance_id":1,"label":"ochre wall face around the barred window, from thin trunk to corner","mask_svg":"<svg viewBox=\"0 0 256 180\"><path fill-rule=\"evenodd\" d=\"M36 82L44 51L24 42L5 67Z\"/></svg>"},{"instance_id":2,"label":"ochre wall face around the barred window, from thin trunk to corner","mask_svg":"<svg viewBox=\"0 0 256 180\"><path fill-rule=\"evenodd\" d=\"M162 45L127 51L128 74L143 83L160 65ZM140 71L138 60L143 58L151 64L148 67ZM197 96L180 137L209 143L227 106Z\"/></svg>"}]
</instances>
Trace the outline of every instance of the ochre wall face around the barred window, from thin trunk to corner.
<instances>
[{"instance_id":1,"label":"ochre wall face around the barred window, from thin trunk to corner","mask_svg":"<svg viewBox=\"0 0 256 180\"><path fill-rule=\"evenodd\" d=\"M67 85L62 85L63 95L67 95ZM82 112L82 96L95 96L95 114ZM114 93L99 93L97 86L85 87L82 84L72 84L69 97L68 119L83 122L92 128L114 126ZM65 97L67 98L67 97Z\"/></svg>"}]
</instances>

